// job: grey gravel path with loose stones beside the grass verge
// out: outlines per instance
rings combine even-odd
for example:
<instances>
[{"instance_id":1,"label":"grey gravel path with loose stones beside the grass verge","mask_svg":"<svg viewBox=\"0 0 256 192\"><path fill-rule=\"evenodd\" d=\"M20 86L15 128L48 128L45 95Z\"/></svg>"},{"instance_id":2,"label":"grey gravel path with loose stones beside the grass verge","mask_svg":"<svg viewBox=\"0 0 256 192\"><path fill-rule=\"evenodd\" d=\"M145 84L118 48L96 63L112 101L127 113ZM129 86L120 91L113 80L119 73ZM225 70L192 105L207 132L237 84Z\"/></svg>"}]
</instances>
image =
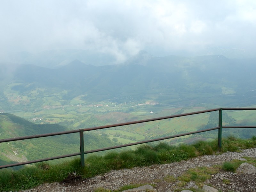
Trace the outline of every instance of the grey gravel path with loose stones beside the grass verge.
<instances>
[{"instance_id":1,"label":"grey gravel path with loose stones beside the grass verge","mask_svg":"<svg viewBox=\"0 0 256 192\"><path fill-rule=\"evenodd\" d=\"M61 183L44 183L36 188L24 190L23 192L53 192L53 191L86 191L94 192L96 188L115 190L128 184L154 184L154 191L172 192L177 189L180 181L167 182L164 177L172 175L175 178L186 172L189 168L210 167L212 165L222 164L225 161L241 159L242 157L256 158L256 148L245 149L241 152L227 152L220 155L200 156L187 161L156 164L149 167L135 167L132 169L113 170L103 175L95 176L89 179L81 179L75 175L68 178L66 182ZM223 183L223 179L229 180L230 183ZM256 191L256 173L233 173L220 171L209 180L204 182L223 192L246 192ZM188 182L182 188L197 188L194 182Z\"/></svg>"}]
</instances>

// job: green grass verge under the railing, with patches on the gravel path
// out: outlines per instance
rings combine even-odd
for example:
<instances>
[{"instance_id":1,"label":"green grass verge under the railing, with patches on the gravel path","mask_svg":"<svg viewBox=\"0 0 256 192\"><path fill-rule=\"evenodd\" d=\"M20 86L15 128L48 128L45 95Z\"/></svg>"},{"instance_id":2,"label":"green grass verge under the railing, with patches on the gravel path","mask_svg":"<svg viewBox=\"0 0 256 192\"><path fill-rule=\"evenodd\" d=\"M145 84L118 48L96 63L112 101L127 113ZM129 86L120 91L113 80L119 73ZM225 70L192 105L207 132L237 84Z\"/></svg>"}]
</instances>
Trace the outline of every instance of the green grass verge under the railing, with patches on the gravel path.
<instances>
[{"instance_id":1,"label":"green grass verge under the railing, with patches on the gravel path","mask_svg":"<svg viewBox=\"0 0 256 192\"><path fill-rule=\"evenodd\" d=\"M214 154L216 151L222 153L226 152L228 148L231 151L239 151L242 148L256 147L255 139L256 137L250 140L241 140L234 137L223 138L222 149L220 150L218 149L217 140L211 142L199 141L193 145L183 144L179 146L171 146L164 142L156 145L143 144L135 150L110 151L102 156L97 154L88 156L85 159L84 167L81 167L80 159L73 159L60 164L39 163L18 171L6 169L0 171L0 189L10 191L33 188L44 182L62 181L72 172L76 172L82 178L90 178L111 170L178 162L195 156ZM250 161L256 163L255 159L250 159ZM234 160L231 164L235 164L235 167L237 167L241 162L243 161ZM230 164L228 166L230 167ZM228 166L223 165L223 168L227 170ZM232 169L228 169L232 171ZM219 170L219 167L190 169L178 178L181 182L177 185L182 187L186 182L194 180L200 186L200 183L209 178L209 175L215 174L217 170ZM174 179L172 177L164 178L167 182Z\"/></svg>"}]
</instances>

